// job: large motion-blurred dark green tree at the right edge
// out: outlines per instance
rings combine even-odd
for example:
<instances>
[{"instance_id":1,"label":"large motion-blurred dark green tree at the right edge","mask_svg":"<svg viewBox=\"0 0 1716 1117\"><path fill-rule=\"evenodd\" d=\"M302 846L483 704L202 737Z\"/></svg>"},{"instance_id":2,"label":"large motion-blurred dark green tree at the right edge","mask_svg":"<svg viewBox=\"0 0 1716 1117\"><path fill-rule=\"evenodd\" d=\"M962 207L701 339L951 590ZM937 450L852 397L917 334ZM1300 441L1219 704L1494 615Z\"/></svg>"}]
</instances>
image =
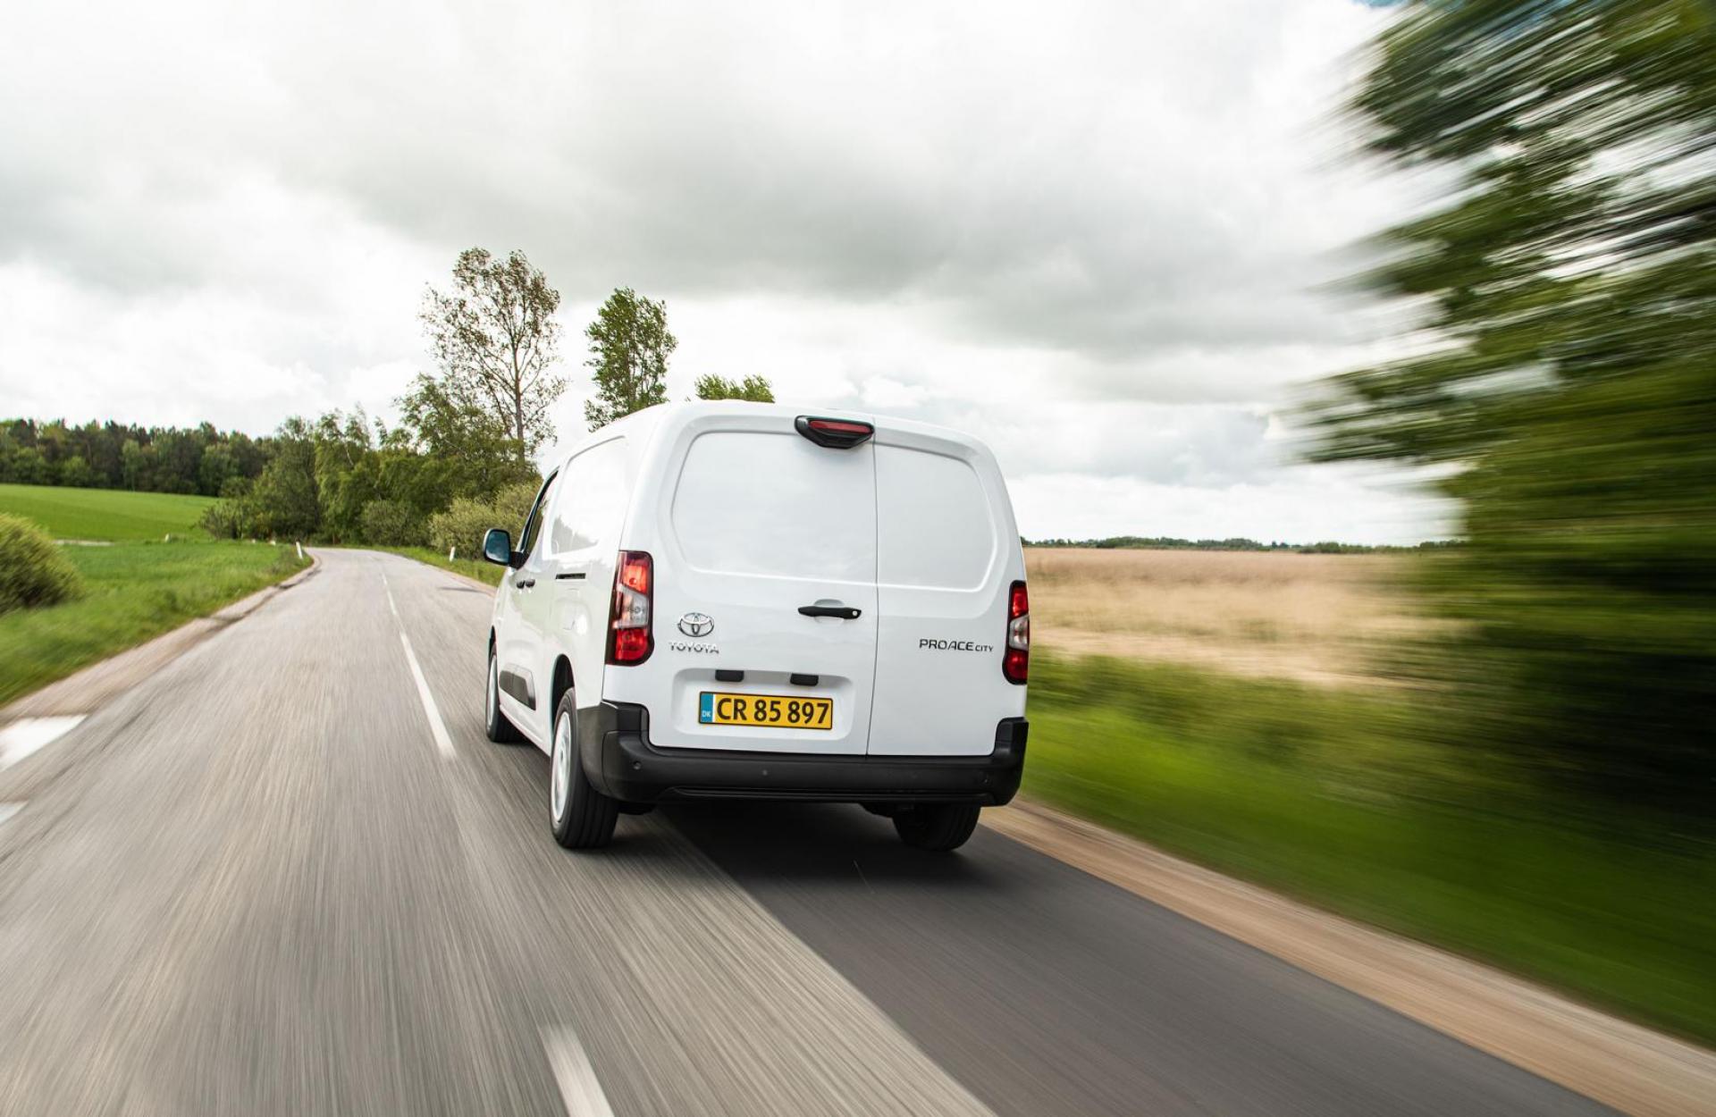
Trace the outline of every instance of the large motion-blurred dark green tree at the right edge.
<instances>
[{"instance_id":1,"label":"large motion-blurred dark green tree at the right edge","mask_svg":"<svg viewBox=\"0 0 1716 1117\"><path fill-rule=\"evenodd\" d=\"M1441 467L1486 745L1632 798L1716 777L1716 7L1412 3L1352 106L1452 172L1373 292L1428 348L1325 384L1321 460Z\"/></svg>"}]
</instances>

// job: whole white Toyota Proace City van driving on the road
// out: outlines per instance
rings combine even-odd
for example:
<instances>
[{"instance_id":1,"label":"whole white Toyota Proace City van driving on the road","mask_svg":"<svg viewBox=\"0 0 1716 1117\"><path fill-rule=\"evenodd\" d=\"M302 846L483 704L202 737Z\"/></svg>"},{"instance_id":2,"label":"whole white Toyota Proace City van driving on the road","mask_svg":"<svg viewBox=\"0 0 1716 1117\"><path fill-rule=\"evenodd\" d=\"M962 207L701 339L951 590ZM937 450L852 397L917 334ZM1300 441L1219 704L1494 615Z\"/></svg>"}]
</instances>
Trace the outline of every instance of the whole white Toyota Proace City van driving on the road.
<instances>
[{"instance_id":1,"label":"whole white Toyota Proace City van driving on the road","mask_svg":"<svg viewBox=\"0 0 1716 1117\"><path fill-rule=\"evenodd\" d=\"M976 439L664 403L542 484L489 631L487 729L549 753L568 848L664 800L863 803L952 849L1024 765L1024 556Z\"/></svg>"}]
</instances>

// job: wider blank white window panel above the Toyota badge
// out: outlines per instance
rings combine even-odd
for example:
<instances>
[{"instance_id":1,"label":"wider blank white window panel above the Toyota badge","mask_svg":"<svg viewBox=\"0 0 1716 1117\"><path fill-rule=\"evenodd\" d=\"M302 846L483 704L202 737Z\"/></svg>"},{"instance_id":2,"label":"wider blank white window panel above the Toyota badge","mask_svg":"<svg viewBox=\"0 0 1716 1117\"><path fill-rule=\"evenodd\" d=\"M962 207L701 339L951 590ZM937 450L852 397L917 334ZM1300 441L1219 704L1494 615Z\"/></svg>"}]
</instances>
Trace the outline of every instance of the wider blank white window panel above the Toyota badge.
<instances>
[{"instance_id":1,"label":"wider blank white window panel above the Toyota badge","mask_svg":"<svg viewBox=\"0 0 1716 1117\"><path fill-rule=\"evenodd\" d=\"M698 570L873 582L870 448L827 450L762 431L700 434L680 467L673 530Z\"/></svg>"}]
</instances>

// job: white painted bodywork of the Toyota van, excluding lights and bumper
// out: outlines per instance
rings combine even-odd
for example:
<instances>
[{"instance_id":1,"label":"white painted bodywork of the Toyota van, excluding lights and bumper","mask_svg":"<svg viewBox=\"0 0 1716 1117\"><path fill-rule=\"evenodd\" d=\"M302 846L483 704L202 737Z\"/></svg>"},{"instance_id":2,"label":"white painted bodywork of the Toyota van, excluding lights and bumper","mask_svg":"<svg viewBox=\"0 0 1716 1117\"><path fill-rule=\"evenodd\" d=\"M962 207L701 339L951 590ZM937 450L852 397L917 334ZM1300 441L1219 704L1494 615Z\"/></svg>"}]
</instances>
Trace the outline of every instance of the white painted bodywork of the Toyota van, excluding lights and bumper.
<instances>
[{"instance_id":1,"label":"white painted bodywork of the Toyota van, excluding lights and bumper","mask_svg":"<svg viewBox=\"0 0 1716 1117\"><path fill-rule=\"evenodd\" d=\"M964 434L846 412L873 438L819 446L793 426L808 410L669 403L571 450L525 568L508 571L496 595L498 647L529 647L537 690L535 709L503 695L513 724L549 741L565 657L580 710L642 705L656 748L831 758L994 750L997 724L1024 712L1024 686L1000 666L1024 559L994 456ZM654 647L640 664L604 666L619 551L652 556ZM520 577L535 585L513 589ZM858 618L798 613L812 604ZM690 614L712 628L681 631ZM832 728L702 724L704 691L832 698Z\"/></svg>"}]
</instances>

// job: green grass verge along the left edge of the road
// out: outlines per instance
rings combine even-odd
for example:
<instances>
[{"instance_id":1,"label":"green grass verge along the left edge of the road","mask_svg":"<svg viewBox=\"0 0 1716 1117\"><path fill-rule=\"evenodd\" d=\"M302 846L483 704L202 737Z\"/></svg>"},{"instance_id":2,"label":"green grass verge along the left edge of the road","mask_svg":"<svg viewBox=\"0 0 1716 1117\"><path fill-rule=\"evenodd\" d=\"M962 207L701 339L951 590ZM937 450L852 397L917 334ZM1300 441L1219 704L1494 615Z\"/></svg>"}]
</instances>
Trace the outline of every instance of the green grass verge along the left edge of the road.
<instances>
[{"instance_id":1,"label":"green grass verge along the left edge of the road","mask_svg":"<svg viewBox=\"0 0 1716 1117\"><path fill-rule=\"evenodd\" d=\"M84 595L0 614L0 703L136 647L307 566L288 546L118 542L65 547Z\"/></svg>"}]
</instances>

